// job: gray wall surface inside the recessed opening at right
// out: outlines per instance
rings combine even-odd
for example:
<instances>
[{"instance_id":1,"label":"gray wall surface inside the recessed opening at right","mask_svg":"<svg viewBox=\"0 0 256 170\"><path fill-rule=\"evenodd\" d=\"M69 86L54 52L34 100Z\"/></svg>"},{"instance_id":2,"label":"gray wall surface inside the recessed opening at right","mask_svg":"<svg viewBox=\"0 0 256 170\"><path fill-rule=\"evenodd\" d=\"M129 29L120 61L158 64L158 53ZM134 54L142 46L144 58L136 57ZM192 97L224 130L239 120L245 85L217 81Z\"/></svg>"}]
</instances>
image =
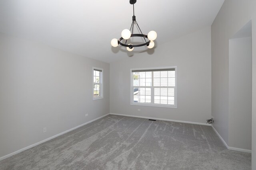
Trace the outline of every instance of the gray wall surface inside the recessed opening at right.
<instances>
[{"instance_id":1,"label":"gray wall surface inside the recessed opening at right","mask_svg":"<svg viewBox=\"0 0 256 170\"><path fill-rule=\"evenodd\" d=\"M228 141L252 149L252 37L229 40Z\"/></svg>"}]
</instances>

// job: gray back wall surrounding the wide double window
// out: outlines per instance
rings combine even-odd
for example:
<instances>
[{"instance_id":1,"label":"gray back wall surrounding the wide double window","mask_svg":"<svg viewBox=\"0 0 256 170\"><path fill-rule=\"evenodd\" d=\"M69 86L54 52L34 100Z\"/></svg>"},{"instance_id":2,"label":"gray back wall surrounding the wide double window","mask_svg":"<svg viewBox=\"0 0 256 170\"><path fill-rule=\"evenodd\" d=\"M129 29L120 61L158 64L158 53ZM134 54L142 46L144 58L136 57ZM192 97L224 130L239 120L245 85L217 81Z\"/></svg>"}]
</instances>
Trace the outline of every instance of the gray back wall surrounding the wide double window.
<instances>
[{"instance_id":1,"label":"gray back wall surrounding the wide double window","mask_svg":"<svg viewBox=\"0 0 256 170\"><path fill-rule=\"evenodd\" d=\"M151 55L136 53L110 63L110 112L206 123L211 117L210 44L206 27L159 45ZM130 69L162 66L178 66L178 108L130 105Z\"/></svg>"}]
</instances>

